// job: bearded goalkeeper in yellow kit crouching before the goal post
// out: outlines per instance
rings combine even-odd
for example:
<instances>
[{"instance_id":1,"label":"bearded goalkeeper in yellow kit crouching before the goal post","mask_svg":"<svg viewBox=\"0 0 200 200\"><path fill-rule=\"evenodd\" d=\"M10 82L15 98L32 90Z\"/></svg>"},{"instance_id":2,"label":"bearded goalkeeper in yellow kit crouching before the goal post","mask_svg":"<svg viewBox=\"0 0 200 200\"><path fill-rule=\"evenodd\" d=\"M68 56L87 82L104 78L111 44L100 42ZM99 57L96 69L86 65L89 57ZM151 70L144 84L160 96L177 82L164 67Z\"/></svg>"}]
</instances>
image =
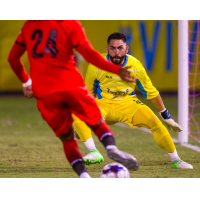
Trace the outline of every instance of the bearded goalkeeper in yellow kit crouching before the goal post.
<instances>
[{"instance_id":1,"label":"bearded goalkeeper in yellow kit crouching before the goal post","mask_svg":"<svg viewBox=\"0 0 200 200\"><path fill-rule=\"evenodd\" d=\"M168 128L172 128L174 131L182 131L180 125L169 115L159 92L152 85L142 64L136 58L127 54L126 37L121 33L111 34L107 40L106 51L107 53L103 54L105 59L121 67L132 66L129 71L131 75L136 77L136 83L124 82L116 74L89 65L85 83L88 90L96 97L96 102L106 123L122 122L128 124L131 128L145 127L150 129L158 146L170 156L173 168L192 169L192 165L179 158L172 138L162 122L149 107L138 100L135 94L135 87L138 86L144 97L157 108ZM83 157L85 163L103 161L103 157L95 147L91 130L76 116L73 116L73 118L73 126L89 150L89 153Z\"/></svg>"}]
</instances>

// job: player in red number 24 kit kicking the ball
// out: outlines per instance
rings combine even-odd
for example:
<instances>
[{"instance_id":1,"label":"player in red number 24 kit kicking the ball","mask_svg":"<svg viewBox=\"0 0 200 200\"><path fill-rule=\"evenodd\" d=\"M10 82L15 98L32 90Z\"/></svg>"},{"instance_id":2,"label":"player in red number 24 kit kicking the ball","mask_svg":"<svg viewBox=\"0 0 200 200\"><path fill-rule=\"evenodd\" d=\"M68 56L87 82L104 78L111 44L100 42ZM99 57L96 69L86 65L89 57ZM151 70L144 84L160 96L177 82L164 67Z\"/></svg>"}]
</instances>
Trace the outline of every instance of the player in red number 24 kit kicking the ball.
<instances>
[{"instance_id":1,"label":"player in red number 24 kit kicking the ball","mask_svg":"<svg viewBox=\"0 0 200 200\"><path fill-rule=\"evenodd\" d=\"M11 49L8 61L23 83L24 95L37 98L42 117L61 139L68 161L81 178L90 176L74 139L72 113L94 131L111 159L130 170L137 170L137 160L117 149L111 129L103 121L94 97L78 73L73 48L89 63L118 74L124 81L135 81L128 68L107 62L95 51L81 24L73 20L27 21ZM20 61L25 51L30 62L31 78Z\"/></svg>"}]
</instances>

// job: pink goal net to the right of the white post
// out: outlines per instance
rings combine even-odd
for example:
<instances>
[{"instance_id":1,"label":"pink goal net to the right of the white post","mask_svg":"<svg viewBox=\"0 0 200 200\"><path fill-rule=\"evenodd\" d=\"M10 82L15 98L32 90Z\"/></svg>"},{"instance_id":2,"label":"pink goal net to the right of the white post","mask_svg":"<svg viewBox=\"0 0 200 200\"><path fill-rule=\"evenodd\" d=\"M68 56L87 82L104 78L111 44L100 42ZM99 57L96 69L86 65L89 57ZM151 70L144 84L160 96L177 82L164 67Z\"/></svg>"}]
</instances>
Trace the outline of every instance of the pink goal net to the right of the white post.
<instances>
[{"instance_id":1,"label":"pink goal net to the right of the white post","mask_svg":"<svg viewBox=\"0 0 200 200\"><path fill-rule=\"evenodd\" d=\"M188 21L189 136L200 142L200 21Z\"/></svg>"}]
</instances>

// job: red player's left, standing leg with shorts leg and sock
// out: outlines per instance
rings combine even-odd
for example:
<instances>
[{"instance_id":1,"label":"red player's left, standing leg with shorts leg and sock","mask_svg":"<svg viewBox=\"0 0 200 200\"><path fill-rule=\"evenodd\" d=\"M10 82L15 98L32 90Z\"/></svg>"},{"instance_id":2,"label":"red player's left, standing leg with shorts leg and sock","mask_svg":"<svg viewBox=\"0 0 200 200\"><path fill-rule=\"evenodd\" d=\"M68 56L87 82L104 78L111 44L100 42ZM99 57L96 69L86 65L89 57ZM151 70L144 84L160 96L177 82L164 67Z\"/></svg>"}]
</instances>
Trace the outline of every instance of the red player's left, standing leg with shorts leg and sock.
<instances>
[{"instance_id":1,"label":"red player's left, standing leg with shorts leg and sock","mask_svg":"<svg viewBox=\"0 0 200 200\"><path fill-rule=\"evenodd\" d=\"M72 117L66 104L62 103L62 93L53 93L37 100L37 106L42 117L62 141L64 153L74 171L81 178L90 178L87 173L82 155L74 139Z\"/></svg>"}]
</instances>

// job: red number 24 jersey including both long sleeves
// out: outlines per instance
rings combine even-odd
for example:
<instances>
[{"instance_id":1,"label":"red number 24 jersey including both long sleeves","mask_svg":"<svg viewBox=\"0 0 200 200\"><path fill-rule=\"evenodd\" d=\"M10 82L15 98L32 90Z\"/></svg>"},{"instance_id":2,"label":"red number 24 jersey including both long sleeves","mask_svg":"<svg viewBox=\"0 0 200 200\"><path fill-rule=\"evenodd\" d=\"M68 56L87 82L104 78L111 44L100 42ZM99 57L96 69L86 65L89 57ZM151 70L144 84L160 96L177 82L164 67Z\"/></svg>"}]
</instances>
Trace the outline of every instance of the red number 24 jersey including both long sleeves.
<instances>
[{"instance_id":1,"label":"red number 24 jersey including both long sleeves","mask_svg":"<svg viewBox=\"0 0 200 200\"><path fill-rule=\"evenodd\" d=\"M29 76L19 60L24 51L19 45L28 52L32 89L38 98L84 86L83 77L75 66L73 48L100 69L118 74L121 68L107 62L95 51L81 24L73 20L33 20L24 24L8 60L16 75L25 83Z\"/></svg>"}]
</instances>

